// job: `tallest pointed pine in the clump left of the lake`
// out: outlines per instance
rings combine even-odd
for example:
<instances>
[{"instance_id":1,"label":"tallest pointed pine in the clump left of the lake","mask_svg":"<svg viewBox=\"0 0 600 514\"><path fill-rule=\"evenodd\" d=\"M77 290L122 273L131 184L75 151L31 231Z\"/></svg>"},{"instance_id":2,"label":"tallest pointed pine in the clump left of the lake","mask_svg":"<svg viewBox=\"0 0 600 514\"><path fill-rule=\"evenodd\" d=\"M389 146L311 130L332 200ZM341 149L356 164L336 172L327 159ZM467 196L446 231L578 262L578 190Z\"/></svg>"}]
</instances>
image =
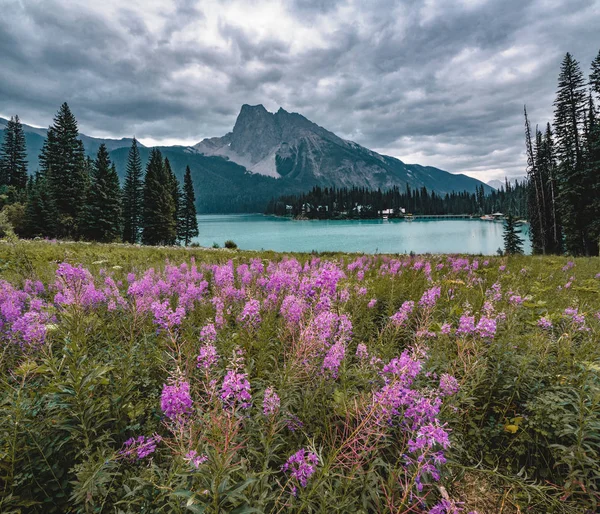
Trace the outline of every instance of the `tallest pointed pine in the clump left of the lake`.
<instances>
[{"instance_id":1,"label":"tallest pointed pine in the clump left of the lake","mask_svg":"<svg viewBox=\"0 0 600 514\"><path fill-rule=\"evenodd\" d=\"M79 137L77 120L64 103L54 118L42 154L41 170L54 199L58 213L58 236L78 235L79 217L86 198L85 156Z\"/></svg>"}]
</instances>

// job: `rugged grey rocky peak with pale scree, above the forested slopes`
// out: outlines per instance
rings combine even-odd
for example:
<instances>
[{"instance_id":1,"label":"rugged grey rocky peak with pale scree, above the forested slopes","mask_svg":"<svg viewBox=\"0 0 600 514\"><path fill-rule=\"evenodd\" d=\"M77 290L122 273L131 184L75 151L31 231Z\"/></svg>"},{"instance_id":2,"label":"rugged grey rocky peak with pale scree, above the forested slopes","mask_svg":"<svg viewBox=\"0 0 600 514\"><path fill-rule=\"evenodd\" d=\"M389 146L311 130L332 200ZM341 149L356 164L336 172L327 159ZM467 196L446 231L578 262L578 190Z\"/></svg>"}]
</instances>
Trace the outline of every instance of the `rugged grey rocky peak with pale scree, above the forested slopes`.
<instances>
[{"instance_id":1,"label":"rugged grey rocky peak with pale scree, above the forested slopes","mask_svg":"<svg viewBox=\"0 0 600 514\"><path fill-rule=\"evenodd\" d=\"M252 173L305 188L320 185L388 189L408 184L444 194L474 192L483 184L432 166L405 164L342 139L298 113L282 108L270 113L262 105L243 105L232 132L204 139L193 148L204 156L221 156Z\"/></svg>"}]
</instances>

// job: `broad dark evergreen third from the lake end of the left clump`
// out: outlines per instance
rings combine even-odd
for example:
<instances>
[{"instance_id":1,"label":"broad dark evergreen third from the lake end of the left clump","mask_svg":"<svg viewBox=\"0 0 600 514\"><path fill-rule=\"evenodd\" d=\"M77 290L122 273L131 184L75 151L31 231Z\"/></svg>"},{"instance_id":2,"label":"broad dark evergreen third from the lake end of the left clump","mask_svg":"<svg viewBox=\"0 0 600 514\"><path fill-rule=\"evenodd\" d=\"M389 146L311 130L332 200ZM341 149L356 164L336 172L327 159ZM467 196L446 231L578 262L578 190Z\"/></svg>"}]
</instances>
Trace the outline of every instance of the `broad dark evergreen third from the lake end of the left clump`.
<instances>
[{"instance_id":1,"label":"broad dark evergreen third from the lake end of the left clump","mask_svg":"<svg viewBox=\"0 0 600 514\"><path fill-rule=\"evenodd\" d=\"M142 242L168 245L177 237L172 183L165 170L160 150L153 148L146 166Z\"/></svg>"}]
</instances>

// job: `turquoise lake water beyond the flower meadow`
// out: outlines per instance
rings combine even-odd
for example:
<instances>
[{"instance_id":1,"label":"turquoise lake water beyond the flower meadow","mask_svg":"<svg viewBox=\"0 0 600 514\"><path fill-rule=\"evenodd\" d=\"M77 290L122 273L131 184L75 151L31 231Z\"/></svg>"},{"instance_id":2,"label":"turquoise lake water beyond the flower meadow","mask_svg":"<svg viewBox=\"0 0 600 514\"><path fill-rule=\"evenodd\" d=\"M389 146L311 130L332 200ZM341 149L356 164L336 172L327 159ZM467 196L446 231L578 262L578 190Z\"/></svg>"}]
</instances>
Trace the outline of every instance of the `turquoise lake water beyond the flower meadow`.
<instances>
[{"instance_id":1,"label":"turquoise lake water beyond the flower meadow","mask_svg":"<svg viewBox=\"0 0 600 514\"><path fill-rule=\"evenodd\" d=\"M279 252L470 253L494 255L504 247L503 223L472 220L297 221L261 214L198 216L202 246L231 239L243 250ZM521 230L524 249L531 253Z\"/></svg>"}]
</instances>

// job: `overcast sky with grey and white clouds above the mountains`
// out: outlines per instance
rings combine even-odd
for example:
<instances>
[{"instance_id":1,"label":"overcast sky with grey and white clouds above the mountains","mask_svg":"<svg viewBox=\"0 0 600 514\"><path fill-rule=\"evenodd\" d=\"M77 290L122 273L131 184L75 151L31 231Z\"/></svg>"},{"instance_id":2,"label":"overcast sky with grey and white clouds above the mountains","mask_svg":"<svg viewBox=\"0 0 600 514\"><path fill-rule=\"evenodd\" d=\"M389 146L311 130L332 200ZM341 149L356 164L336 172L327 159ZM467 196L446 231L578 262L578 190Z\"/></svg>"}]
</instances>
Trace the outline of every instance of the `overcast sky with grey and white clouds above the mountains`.
<instances>
[{"instance_id":1,"label":"overcast sky with grey and white clouds above the mountains","mask_svg":"<svg viewBox=\"0 0 600 514\"><path fill-rule=\"evenodd\" d=\"M243 103L299 112L405 162L524 173L522 108L588 73L600 0L0 0L0 116L193 144Z\"/></svg>"}]
</instances>

